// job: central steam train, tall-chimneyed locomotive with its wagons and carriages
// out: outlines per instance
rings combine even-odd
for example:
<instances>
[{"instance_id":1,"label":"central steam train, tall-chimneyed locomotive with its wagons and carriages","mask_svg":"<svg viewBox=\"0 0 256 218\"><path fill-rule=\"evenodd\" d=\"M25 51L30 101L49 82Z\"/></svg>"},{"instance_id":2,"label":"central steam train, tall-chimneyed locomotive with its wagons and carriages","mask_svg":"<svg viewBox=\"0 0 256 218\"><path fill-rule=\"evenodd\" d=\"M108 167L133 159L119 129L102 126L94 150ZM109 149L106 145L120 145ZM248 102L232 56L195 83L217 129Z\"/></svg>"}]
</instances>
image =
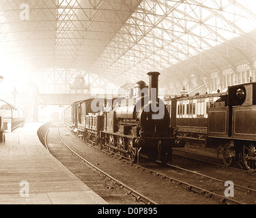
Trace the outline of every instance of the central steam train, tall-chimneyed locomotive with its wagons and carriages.
<instances>
[{"instance_id":1,"label":"central steam train, tall-chimneyed locomotive with its wagons and carriages","mask_svg":"<svg viewBox=\"0 0 256 218\"><path fill-rule=\"evenodd\" d=\"M170 115L158 98L158 72L149 72L126 98L85 99L64 111L64 120L85 141L137 161L139 153L162 162L171 161ZM134 93L132 95L132 93Z\"/></svg>"}]
</instances>

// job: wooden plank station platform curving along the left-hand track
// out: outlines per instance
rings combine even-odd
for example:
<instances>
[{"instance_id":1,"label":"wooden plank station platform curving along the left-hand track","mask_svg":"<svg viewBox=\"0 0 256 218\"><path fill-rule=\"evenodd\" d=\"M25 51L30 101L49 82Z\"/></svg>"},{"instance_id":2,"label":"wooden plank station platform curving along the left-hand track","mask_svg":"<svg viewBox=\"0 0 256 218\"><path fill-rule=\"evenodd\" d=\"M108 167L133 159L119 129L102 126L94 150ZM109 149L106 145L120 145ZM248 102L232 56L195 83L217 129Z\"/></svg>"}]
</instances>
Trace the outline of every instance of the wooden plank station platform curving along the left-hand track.
<instances>
[{"instance_id":1,"label":"wooden plank station platform curving along the left-hand track","mask_svg":"<svg viewBox=\"0 0 256 218\"><path fill-rule=\"evenodd\" d=\"M26 123L0 144L0 204L107 204L41 144Z\"/></svg>"}]
</instances>

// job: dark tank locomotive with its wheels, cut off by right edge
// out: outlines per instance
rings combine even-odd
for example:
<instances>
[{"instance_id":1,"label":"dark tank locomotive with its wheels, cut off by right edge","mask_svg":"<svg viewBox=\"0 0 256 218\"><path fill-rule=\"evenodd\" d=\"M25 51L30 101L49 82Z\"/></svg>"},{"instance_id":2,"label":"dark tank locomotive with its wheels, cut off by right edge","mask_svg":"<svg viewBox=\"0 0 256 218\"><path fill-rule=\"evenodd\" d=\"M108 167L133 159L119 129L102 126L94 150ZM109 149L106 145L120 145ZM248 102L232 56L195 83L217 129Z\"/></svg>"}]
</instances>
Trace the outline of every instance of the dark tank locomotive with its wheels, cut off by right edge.
<instances>
[{"instance_id":1,"label":"dark tank locomotive with its wheels, cut off by right edge","mask_svg":"<svg viewBox=\"0 0 256 218\"><path fill-rule=\"evenodd\" d=\"M208 136L222 139L225 165L256 171L256 82L228 87L227 105L209 111Z\"/></svg>"}]
</instances>

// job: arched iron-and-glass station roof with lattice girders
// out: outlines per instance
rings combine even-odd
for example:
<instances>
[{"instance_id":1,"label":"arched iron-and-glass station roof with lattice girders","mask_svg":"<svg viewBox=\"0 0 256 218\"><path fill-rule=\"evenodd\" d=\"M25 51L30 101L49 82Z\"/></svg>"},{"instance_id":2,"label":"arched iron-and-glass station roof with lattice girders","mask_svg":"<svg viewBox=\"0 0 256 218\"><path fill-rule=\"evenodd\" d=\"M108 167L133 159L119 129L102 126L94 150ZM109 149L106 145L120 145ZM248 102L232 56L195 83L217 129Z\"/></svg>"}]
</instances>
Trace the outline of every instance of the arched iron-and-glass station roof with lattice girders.
<instances>
[{"instance_id":1,"label":"arched iron-and-glass station roof with lattice girders","mask_svg":"<svg viewBox=\"0 0 256 218\"><path fill-rule=\"evenodd\" d=\"M121 86L253 63L255 0L1 0L0 72L66 67Z\"/></svg>"}]
</instances>

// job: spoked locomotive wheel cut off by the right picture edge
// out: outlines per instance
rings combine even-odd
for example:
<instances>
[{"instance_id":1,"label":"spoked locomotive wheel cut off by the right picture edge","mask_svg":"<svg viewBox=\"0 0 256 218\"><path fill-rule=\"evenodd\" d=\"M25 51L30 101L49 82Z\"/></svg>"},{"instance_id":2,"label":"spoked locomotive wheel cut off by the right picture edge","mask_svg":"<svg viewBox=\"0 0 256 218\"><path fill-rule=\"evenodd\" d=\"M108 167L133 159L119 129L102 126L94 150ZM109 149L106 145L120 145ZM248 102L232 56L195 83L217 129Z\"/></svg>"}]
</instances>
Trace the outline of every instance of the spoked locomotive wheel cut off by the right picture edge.
<instances>
[{"instance_id":1,"label":"spoked locomotive wheel cut off by the right picture edge","mask_svg":"<svg viewBox=\"0 0 256 218\"><path fill-rule=\"evenodd\" d=\"M256 171L256 143L247 142L243 147L244 165L251 172Z\"/></svg>"}]
</instances>

